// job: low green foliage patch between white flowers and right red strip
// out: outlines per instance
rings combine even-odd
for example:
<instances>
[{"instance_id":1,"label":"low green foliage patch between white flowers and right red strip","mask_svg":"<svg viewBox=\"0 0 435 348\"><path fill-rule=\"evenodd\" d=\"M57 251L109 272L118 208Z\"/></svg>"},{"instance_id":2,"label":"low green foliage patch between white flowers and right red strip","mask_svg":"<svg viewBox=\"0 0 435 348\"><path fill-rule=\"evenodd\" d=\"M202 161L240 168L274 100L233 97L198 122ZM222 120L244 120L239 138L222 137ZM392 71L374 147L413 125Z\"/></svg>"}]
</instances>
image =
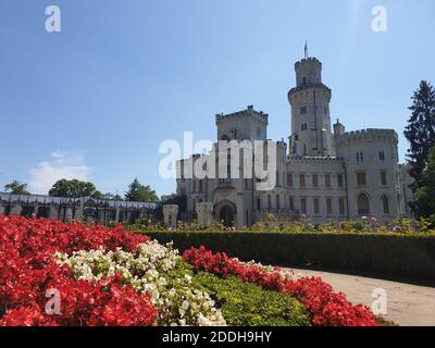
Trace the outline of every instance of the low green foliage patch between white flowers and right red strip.
<instances>
[{"instance_id":1,"label":"low green foliage patch between white flowers and right red strip","mask_svg":"<svg viewBox=\"0 0 435 348\"><path fill-rule=\"evenodd\" d=\"M208 293L232 326L310 326L303 304L288 295L263 290L236 276L220 278L199 272L194 287Z\"/></svg>"}]
</instances>

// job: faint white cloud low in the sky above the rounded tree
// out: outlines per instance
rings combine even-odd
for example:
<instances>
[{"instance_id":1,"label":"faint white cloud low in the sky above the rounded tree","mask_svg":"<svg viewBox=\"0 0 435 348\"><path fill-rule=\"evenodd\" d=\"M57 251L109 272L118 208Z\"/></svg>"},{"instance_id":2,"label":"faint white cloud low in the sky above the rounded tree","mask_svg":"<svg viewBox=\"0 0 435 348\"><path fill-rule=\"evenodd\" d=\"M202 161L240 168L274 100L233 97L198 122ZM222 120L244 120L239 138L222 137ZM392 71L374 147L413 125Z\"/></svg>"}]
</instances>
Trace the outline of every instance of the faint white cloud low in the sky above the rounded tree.
<instances>
[{"instance_id":1,"label":"faint white cloud low in the sky above the rounded tree","mask_svg":"<svg viewBox=\"0 0 435 348\"><path fill-rule=\"evenodd\" d=\"M92 169L85 163L84 153L54 151L49 161L44 161L30 170L28 182L30 191L47 195L53 184L61 179L89 181Z\"/></svg>"}]
</instances>

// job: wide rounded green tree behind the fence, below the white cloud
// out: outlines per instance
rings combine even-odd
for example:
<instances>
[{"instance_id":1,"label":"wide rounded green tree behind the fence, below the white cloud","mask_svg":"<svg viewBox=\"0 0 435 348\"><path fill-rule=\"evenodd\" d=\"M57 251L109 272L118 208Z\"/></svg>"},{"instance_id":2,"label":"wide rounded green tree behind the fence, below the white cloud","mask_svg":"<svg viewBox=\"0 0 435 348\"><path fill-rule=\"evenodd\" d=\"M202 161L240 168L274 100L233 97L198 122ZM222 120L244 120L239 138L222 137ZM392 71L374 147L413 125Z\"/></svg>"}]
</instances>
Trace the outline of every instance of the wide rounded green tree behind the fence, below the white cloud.
<instances>
[{"instance_id":1,"label":"wide rounded green tree behind the fence, below the white cloud","mask_svg":"<svg viewBox=\"0 0 435 348\"><path fill-rule=\"evenodd\" d=\"M58 181L48 192L53 197L91 197L101 199L102 194L97 190L96 186L90 182L82 182L76 178L67 181L62 178Z\"/></svg>"}]
</instances>

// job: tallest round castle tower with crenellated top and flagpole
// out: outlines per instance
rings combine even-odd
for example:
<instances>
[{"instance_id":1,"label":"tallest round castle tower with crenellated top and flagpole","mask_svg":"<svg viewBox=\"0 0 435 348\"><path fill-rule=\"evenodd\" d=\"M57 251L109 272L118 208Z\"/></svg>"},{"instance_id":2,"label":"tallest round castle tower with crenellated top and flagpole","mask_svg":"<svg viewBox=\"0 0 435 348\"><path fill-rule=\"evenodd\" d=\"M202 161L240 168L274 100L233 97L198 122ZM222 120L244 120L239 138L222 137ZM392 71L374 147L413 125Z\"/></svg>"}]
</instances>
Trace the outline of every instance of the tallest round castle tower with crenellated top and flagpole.
<instances>
[{"instance_id":1,"label":"tallest round castle tower with crenellated top and flagpole","mask_svg":"<svg viewBox=\"0 0 435 348\"><path fill-rule=\"evenodd\" d=\"M322 63L304 58L295 64L296 87L288 92L291 105L290 154L335 156L331 132L331 89L322 83Z\"/></svg>"}]
</instances>

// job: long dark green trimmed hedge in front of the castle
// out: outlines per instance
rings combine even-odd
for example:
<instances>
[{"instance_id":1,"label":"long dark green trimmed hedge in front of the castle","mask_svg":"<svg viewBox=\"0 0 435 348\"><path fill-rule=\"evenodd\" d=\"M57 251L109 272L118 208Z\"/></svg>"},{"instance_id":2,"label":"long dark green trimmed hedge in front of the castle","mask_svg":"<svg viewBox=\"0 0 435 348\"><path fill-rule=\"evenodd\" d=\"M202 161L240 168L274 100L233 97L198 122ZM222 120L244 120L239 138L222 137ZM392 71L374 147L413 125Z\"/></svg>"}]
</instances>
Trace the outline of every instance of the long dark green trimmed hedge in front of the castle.
<instances>
[{"instance_id":1,"label":"long dark green trimmed hedge in front of the castle","mask_svg":"<svg viewBox=\"0 0 435 348\"><path fill-rule=\"evenodd\" d=\"M241 261L435 281L435 236L249 232L146 234L163 244L173 240L181 252L204 246Z\"/></svg>"}]
</instances>

